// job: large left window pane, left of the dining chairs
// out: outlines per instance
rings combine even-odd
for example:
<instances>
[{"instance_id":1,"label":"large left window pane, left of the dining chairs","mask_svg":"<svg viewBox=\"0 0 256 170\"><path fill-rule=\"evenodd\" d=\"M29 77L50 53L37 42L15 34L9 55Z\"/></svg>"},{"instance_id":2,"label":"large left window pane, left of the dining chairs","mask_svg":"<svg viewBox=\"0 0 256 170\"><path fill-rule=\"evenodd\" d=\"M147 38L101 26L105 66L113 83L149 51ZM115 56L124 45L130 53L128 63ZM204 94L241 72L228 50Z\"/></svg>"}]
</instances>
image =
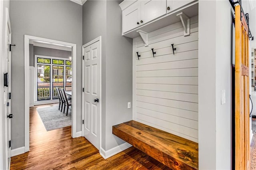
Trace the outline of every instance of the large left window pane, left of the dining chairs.
<instances>
[{"instance_id":1,"label":"large left window pane, left of the dining chairs","mask_svg":"<svg viewBox=\"0 0 256 170\"><path fill-rule=\"evenodd\" d=\"M37 100L50 100L50 65L37 65Z\"/></svg>"}]
</instances>

